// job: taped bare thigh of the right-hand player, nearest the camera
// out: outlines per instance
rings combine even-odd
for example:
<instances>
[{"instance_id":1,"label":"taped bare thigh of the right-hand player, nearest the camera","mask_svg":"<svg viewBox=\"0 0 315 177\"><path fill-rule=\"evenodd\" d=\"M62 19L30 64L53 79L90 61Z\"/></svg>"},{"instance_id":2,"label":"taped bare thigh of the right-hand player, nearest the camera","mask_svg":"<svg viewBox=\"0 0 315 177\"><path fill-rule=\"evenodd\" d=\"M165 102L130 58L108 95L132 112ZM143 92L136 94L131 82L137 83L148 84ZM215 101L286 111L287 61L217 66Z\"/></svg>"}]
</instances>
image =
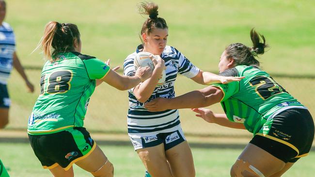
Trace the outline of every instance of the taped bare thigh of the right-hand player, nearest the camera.
<instances>
[{"instance_id":1,"label":"taped bare thigh of the right-hand player, nearest the camera","mask_svg":"<svg viewBox=\"0 0 315 177\"><path fill-rule=\"evenodd\" d=\"M282 160L249 143L232 166L231 177L269 177L284 166Z\"/></svg>"}]
</instances>

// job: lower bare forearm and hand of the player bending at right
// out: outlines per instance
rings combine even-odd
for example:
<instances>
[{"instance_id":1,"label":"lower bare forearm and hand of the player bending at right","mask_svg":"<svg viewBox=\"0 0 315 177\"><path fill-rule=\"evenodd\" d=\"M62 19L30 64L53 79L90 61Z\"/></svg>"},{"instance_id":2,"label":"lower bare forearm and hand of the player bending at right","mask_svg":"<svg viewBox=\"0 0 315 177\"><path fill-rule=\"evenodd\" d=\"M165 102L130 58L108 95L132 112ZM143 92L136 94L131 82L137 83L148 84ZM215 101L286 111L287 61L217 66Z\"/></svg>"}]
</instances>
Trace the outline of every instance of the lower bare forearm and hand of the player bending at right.
<instances>
[{"instance_id":1,"label":"lower bare forearm and hand of the player bending at right","mask_svg":"<svg viewBox=\"0 0 315 177\"><path fill-rule=\"evenodd\" d=\"M203 118L209 123L216 123L224 127L230 127L234 129L245 129L244 124L230 121L225 114L215 114L209 109L205 108L193 108L191 109L197 117Z\"/></svg>"}]
</instances>

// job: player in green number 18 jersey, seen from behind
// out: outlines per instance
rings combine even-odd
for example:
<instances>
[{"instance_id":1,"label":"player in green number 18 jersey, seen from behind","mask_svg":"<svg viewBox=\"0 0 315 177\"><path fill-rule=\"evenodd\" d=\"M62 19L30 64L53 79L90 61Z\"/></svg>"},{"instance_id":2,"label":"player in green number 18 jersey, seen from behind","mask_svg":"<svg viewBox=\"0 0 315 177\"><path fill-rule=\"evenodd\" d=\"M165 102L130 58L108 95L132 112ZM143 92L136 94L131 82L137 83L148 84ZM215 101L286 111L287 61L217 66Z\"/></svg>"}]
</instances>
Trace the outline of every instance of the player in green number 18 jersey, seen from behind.
<instances>
[{"instance_id":1,"label":"player in green number 18 jersey, seen from behind","mask_svg":"<svg viewBox=\"0 0 315 177\"><path fill-rule=\"evenodd\" d=\"M95 177L112 177L113 165L83 127L96 79L126 90L150 77L150 68L122 76L103 61L80 54L79 29L71 23L49 22L42 39L47 61L28 123L36 157L55 177L73 177L73 163Z\"/></svg>"}]
</instances>

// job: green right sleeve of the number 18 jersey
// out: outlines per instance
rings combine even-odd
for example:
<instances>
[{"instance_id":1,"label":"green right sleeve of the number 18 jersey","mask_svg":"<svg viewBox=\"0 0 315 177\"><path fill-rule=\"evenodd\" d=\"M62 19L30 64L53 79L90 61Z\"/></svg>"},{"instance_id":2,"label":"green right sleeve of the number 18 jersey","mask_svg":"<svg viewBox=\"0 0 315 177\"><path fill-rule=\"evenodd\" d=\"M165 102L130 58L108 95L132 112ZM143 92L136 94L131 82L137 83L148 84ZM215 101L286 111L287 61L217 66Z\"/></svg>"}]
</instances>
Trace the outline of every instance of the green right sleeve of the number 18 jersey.
<instances>
[{"instance_id":1,"label":"green right sleeve of the number 18 jersey","mask_svg":"<svg viewBox=\"0 0 315 177\"><path fill-rule=\"evenodd\" d=\"M83 62L90 79L102 79L110 72L110 67L100 59L84 59Z\"/></svg>"}]
</instances>

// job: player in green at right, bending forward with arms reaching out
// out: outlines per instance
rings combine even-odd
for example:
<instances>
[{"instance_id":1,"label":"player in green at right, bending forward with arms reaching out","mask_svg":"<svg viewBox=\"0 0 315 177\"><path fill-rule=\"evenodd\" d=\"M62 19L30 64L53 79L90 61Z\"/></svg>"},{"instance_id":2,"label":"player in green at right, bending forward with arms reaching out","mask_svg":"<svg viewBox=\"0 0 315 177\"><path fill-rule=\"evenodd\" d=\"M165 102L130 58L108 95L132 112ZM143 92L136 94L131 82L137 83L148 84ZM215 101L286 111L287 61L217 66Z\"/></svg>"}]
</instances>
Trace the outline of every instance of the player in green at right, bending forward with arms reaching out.
<instances>
[{"instance_id":1,"label":"player in green at right, bending forward with arms reaching out","mask_svg":"<svg viewBox=\"0 0 315 177\"><path fill-rule=\"evenodd\" d=\"M231 168L231 177L280 177L300 157L308 155L314 139L314 121L272 77L259 69L255 58L264 54L264 36L252 29L253 46L230 44L221 55L220 75L245 76L239 82L214 84L171 100L158 98L145 107L151 111L195 108L197 117L222 126L247 129L254 137ZM204 108L221 102L225 114Z\"/></svg>"}]
</instances>

